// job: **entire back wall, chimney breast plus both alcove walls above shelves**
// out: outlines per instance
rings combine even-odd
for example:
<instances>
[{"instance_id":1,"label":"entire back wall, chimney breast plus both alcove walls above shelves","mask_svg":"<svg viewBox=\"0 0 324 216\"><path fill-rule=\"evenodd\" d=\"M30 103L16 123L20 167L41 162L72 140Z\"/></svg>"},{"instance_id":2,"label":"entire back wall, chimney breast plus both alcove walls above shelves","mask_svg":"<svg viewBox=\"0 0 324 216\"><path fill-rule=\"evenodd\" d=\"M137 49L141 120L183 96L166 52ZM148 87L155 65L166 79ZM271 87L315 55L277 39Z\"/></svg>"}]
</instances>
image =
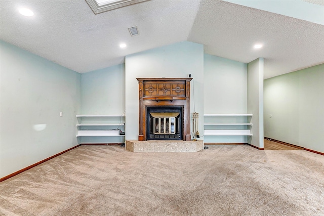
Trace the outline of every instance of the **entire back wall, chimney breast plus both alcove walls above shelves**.
<instances>
[{"instance_id":1,"label":"entire back wall, chimney breast plus both alcove walls above shelves","mask_svg":"<svg viewBox=\"0 0 324 216\"><path fill-rule=\"evenodd\" d=\"M247 112L247 64L204 55L201 45L181 42L127 56L126 72L124 65L117 65L82 74L82 113L119 114L123 112L123 108L125 109L126 103L129 105L127 139L137 139L138 82L136 77L188 77L189 73L193 77L191 87L195 90L196 112L200 113L201 138L203 138L204 112ZM111 83L111 80L114 82ZM204 94L201 93L202 91ZM191 93L193 112L193 92ZM197 111L202 107L205 111ZM247 142L246 137L226 139L226 142L229 142L228 139L232 139L232 142Z\"/></svg>"}]
</instances>

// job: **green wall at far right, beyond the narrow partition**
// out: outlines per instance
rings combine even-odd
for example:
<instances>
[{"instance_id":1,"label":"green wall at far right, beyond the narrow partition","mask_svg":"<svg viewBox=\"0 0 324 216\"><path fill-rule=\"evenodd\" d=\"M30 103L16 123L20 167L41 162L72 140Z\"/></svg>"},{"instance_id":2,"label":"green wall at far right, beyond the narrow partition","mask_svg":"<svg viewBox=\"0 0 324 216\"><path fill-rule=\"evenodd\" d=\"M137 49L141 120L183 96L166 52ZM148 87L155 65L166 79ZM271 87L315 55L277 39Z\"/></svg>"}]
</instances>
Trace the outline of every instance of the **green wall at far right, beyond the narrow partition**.
<instances>
[{"instance_id":1,"label":"green wall at far right, beyond the narrow partition","mask_svg":"<svg viewBox=\"0 0 324 216\"><path fill-rule=\"evenodd\" d=\"M323 83L324 64L264 80L264 136L324 152Z\"/></svg>"}]
</instances>

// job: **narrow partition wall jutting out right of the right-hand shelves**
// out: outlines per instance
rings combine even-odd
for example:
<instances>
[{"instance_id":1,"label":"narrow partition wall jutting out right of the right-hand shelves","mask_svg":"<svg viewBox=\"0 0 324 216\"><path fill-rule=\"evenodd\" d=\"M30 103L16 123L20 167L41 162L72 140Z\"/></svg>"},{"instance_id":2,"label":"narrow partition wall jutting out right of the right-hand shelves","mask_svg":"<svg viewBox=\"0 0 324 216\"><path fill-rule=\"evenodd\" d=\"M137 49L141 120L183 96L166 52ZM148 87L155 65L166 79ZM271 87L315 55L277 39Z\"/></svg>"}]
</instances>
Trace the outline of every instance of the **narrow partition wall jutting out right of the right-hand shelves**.
<instances>
[{"instance_id":1,"label":"narrow partition wall jutting out right of the right-hand shelves","mask_svg":"<svg viewBox=\"0 0 324 216\"><path fill-rule=\"evenodd\" d=\"M258 58L248 63L248 113L252 113L251 133L248 143L264 148L263 143L263 74L264 59Z\"/></svg>"}]
</instances>

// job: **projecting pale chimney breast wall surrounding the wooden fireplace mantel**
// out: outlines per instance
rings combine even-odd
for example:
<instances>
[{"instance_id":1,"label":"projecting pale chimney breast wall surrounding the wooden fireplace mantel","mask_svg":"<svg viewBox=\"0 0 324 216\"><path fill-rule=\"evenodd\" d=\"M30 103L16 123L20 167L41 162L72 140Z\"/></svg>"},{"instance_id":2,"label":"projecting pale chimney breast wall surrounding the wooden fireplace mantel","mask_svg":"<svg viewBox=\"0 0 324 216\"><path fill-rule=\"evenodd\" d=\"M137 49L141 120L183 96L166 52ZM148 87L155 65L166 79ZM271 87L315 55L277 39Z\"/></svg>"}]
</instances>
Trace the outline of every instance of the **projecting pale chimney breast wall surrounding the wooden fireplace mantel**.
<instances>
[{"instance_id":1,"label":"projecting pale chimney breast wall surrounding the wooden fireplace mantel","mask_svg":"<svg viewBox=\"0 0 324 216\"><path fill-rule=\"evenodd\" d=\"M139 77L188 77L191 74L190 113L204 113L204 46L184 41L126 56L126 139L137 140L139 133ZM195 106L194 106L195 105ZM199 116L199 134L203 118ZM190 116L192 118L192 115ZM191 119L192 121L192 119ZM192 127L192 122L190 123ZM191 128L192 129L192 128Z\"/></svg>"}]
</instances>

